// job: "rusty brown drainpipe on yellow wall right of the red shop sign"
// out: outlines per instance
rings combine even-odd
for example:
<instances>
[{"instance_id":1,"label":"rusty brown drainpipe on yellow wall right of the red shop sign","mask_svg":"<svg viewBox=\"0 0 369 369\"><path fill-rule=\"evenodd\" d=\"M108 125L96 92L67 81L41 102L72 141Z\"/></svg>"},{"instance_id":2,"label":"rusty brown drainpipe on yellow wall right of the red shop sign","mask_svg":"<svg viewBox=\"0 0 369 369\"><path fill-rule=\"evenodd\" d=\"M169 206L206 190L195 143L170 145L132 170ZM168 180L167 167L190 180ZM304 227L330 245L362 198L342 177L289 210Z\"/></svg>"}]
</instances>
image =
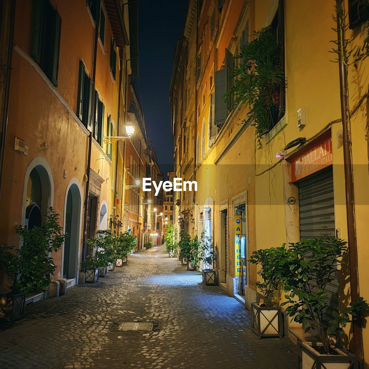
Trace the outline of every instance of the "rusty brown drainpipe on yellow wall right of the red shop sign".
<instances>
[{"instance_id":1,"label":"rusty brown drainpipe on yellow wall right of the red shop sign","mask_svg":"<svg viewBox=\"0 0 369 369\"><path fill-rule=\"evenodd\" d=\"M351 301L355 301L360 296L359 291L359 275L358 275L358 245L356 239L356 223L355 223L355 198L354 198L354 177L352 173L352 142L351 142L351 125L349 116L348 103L348 82L347 82L347 66L344 63L346 50L345 27L344 20L341 23L344 12L344 4L342 0L336 0L337 7L337 28L338 28L338 66L339 66L339 91L341 97L341 116L342 116L342 133L343 133L343 149L344 149L344 172L345 172L345 190L346 190L346 218L348 232L348 256L350 270L350 294ZM363 360L363 336L360 319L354 320L352 324L354 342L354 354Z\"/></svg>"}]
</instances>

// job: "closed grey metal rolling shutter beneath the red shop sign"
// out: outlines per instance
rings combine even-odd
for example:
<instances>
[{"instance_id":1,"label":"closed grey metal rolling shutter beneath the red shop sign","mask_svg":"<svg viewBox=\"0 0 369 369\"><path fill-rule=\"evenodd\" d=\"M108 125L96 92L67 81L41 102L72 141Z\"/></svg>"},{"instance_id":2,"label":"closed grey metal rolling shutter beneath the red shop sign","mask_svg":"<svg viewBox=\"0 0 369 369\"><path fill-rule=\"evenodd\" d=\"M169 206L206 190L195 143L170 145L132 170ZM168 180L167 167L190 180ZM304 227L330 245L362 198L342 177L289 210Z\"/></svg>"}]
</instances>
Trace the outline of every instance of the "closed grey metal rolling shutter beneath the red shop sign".
<instances>
[{"instance_id":1,"label":"closed grey metal rolling shutter beneath the red shop sign","mask_svg":"<svg viewBox=\"0 0 369 369\"><path fill-rule=\"evenodd\" d=\"M300 238L336 237L334 218L333 170L332 166L321 170L298 183L300 208ZM338 311L338 281L327 286L331 300L330 310Z\"/></svg>"}]
</instances>

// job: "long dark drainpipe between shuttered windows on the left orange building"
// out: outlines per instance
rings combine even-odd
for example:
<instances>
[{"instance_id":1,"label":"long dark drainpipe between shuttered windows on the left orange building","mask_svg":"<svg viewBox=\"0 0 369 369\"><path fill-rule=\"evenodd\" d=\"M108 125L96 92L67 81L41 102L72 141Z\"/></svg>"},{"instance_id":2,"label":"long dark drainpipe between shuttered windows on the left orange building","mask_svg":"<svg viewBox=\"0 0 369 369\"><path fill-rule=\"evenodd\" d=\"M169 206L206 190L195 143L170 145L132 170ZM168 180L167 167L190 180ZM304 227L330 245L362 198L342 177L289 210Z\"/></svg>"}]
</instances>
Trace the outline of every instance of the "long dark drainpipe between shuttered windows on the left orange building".
<instances>
[{"instance_id":1,"label":"long dark drainpipe between shuttered windows on the left orange building","mask_svg":"<svg viewBox=\"0 0 369 369\"><path fill-rule=\"evenodd\" d=\"M94 39L94 49L93 49L93 65L92 65L92 82L93 86L95 87L95 79L96 79L96 55L97 55L97 38L99 36L99 25L95 23L95 39ZM93 92L93 99L92 99L92 114L95 114L96 106L95 106L95 93ZM92 127L93 129L93 127ZM91 166L91 146L92 146L92 132L89 135L89 146L87 152L87 182L86 182L86 189L85 189L85 205L84 205L84 213L83 213L83 239L82 239L82 256L81 256L81 268L82 262L86 259L88 246L86 245L86 237L87 237L87 207L89 203L89 190L90 190L90 166Z\"/></svg>"}]
</instances>

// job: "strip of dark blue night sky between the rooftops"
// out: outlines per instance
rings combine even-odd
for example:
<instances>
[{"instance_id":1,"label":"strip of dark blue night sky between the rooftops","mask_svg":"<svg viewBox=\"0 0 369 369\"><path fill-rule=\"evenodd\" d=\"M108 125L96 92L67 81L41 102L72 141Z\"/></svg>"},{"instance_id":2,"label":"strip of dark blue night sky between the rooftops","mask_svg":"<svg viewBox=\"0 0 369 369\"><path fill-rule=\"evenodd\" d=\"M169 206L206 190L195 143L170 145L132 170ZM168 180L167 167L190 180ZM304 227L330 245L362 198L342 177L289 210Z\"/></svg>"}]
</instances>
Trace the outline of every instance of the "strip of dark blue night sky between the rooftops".
<instances>
[{"instance_id":1,"label":"strip of dark blue night sky between the rooftops","mask_svg":"<svg viewBox=\"0 0 369 369\"><path fill-rule=\"evenodd\" d=\"M187 4L187 0L140 0L138 8L138 73L146 134L165 176L173 170L169 104L173 52L183 37Z\"/></svg>"}]
</instances>

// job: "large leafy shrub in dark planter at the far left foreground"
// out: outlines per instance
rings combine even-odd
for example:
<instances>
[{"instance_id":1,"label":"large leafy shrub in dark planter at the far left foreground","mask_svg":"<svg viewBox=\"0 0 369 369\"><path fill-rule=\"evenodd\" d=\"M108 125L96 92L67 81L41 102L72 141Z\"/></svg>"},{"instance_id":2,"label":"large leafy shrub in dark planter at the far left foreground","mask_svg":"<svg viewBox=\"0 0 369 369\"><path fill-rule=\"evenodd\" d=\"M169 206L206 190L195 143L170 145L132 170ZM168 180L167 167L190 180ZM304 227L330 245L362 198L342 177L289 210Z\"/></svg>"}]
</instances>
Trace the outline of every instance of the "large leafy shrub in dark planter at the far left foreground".
<instances>
[{"instance_id":1,"label":"large leafy shrub in dark planter at the far left foreground","mask_svg":"<svg viewBox=\"0 0 369 369\"><path fill-rule=\"evenodd\" d=\"M1 245L0 249L0 268L12 283L10 292L0 294L0 320L7 323L23 317L26 295L46 291L56 269L51 252L58 251L65 238L59 214L52 207L41 226L27 229L19 225L15 231L22 247L15 252L13 246Z\"/></svg>"}]
</instances>

